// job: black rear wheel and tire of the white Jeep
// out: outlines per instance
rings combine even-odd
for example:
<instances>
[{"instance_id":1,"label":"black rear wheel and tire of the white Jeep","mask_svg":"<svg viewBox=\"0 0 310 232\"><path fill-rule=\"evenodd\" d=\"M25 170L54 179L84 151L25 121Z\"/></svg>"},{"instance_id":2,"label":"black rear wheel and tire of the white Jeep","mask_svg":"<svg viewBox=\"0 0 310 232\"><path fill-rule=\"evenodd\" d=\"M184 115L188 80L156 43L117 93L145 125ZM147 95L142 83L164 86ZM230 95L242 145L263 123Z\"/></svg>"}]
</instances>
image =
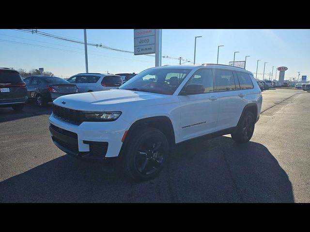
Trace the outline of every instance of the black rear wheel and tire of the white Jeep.
<instances>
[{"instance_id":1,"label":"black rear wheel and tire of the white Jeep","mask_svg":"<svg viewBox=\"0 0 310 232\"><path fill-rule=\"evenodd\" d=\"M242 117L239 127L235 133L232 133L232 139L236 143L247 143L254 133L255 117L250 111L247 111Z\"/></svg>"}]
</instances>

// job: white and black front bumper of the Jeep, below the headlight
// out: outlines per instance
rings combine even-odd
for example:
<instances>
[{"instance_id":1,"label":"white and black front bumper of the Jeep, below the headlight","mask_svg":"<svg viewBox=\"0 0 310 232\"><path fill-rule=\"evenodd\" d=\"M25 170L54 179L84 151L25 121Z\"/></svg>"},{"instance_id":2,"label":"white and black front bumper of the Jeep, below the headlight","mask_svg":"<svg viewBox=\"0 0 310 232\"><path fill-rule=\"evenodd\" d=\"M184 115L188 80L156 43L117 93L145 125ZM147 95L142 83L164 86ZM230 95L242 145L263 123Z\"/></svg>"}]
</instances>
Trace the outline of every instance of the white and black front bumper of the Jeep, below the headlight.
<instances>
[{"instance_id":1,"label":"white and black front bumper of the Jeep, below the headlight","mask_svg":"<svg viewBox=\"0 0 310 232\"><path fill-rule=\"evenodd\" d=\"M124 132L129 125L122 118L111 122L71 124L49 116L54 144L69 155L92 160L117 157L123 145Z\"/></svg>"}]
</instances>

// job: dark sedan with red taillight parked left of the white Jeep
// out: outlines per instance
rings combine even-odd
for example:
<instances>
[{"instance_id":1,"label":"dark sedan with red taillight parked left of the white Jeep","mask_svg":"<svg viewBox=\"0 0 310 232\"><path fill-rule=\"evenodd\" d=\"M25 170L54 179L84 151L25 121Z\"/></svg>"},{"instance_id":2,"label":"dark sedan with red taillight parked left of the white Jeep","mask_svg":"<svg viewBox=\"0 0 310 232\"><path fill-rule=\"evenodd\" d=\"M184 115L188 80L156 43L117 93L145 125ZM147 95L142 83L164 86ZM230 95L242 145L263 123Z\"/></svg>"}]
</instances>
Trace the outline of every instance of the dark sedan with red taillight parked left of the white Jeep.
<instances>
[{"instance_id":1,"label":"dark sedan with red taillight parked left of the white Jeep","mask_svg":"<svg viewBox=\"0 0 310 232\"><path fill-rule=\"evenodd\" d=\"M77 85L60 77L29 76L24 82L27 85L28 99L35 100L40 107L62 95L78 93Z\"/></svg>"}]
</instances>

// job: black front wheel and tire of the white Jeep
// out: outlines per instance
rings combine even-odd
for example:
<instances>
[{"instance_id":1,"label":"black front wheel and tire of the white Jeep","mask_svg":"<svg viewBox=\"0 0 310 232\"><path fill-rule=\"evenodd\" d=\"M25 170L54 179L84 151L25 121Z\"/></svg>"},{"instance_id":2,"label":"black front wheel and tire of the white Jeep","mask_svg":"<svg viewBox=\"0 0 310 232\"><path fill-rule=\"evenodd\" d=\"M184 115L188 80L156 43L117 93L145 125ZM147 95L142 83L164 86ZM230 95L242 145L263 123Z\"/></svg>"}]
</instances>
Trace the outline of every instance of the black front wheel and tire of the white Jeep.
<instances>
[{"instance_id":1,"label":"black front wheel and tire of the white Jeep","mask_svg":"<svg viewBox=\"0 0 310 232\"><path fill-rule=\"evenodd\" d=\"M155 128L145 127L137 129L128 142L123 157L125 174L136 181L153 179L168 160L166 136Z\"/></svg>"}]
</instances>

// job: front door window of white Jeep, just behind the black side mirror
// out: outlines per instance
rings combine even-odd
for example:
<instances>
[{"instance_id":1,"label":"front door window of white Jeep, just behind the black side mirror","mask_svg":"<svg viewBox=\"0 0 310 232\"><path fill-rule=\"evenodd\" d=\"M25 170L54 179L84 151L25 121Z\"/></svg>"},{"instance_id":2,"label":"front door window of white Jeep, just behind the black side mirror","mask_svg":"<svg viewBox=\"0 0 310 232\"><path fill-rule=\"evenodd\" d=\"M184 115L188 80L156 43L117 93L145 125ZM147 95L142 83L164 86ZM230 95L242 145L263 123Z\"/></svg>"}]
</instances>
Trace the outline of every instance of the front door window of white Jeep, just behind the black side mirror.
<instances>
[{"instance_id":1,"label":"front door window of white Jeep, just behind the black side mirror","mask_svg":"<svg viewBox=\"0 0 310 232\"><path fill-rule=\"evenodd\" d=\"M210 69L198 70L187 82L187 85L189 84L203 85L205 93L214 92L212 71Z\"/></svg>"}]
</instances>

